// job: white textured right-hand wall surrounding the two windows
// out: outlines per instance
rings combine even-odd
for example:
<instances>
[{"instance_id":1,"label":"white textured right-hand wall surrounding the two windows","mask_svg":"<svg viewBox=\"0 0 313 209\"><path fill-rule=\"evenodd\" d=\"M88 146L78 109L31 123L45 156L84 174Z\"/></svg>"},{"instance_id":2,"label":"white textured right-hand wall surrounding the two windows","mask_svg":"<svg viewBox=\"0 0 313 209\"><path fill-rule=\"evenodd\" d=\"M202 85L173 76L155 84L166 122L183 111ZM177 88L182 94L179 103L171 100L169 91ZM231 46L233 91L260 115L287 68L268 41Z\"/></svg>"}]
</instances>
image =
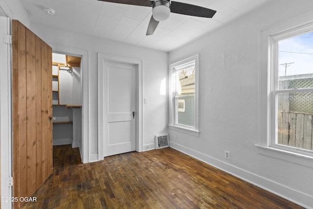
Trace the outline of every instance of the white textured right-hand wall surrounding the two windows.
<instances>
[{"instance_id":1,"label":"white textured right-hand wall surrounding the two windows","mask_svg":"<svg viewBox=\"0 0 313 209\"><path fill-rule=\"evenodd\" d=\"M271 0L169 53L170 64L199 54L200 66L200 136L170 130L171 146L307 208L313 207L313 168L261 155L255 144L260 31L312 9L311 0Z\"/></svg>"}]
</instances>

